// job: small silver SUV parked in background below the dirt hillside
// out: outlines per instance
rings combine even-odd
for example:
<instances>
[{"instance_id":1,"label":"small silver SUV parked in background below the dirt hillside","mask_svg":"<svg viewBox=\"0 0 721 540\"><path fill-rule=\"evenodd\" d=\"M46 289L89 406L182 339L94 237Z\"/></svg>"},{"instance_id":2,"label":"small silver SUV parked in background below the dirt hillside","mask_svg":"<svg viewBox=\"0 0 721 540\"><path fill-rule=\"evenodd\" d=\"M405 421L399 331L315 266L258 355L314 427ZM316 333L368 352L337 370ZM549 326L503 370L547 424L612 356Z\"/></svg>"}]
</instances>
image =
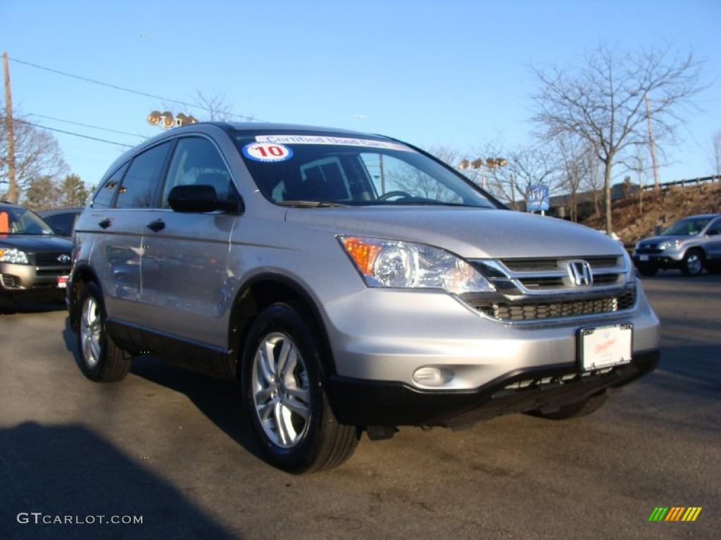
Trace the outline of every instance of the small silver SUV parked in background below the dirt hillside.
<instances>
[{"instance_id":1,"label":"small silver SUV parked in background below the dirt hillside","mask_svg":"<svg viewBox=\"0 0 721 540\"><path fill-rule=\"evenodd\" d=\"M633 261L644 276L658 269L679 269L686 276L721 270L721 214L684 217L660 235L636 244Z\"/></svg>"}]
</instances>

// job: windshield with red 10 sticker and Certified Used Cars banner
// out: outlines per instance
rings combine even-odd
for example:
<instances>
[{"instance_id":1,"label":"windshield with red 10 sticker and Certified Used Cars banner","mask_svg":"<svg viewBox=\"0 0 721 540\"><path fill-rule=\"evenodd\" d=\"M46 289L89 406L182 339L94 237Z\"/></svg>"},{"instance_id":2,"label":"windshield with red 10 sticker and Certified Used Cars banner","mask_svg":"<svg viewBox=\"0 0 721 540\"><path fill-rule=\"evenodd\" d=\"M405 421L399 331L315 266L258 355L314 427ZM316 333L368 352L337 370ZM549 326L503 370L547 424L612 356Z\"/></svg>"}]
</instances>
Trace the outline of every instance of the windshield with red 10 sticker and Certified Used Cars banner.
<instances>
[{"instance_id":1,"label":"windshield with red 10 sticker and Certified Used Cars banner","mask_svg":"<svg viewBox=\"0 0 721 540\"><path fill-rule=\"evenodd\" d=\"M392 140L266 132L238 134L235 143L262 194L276 204L496 208L459 174Z\"/></svg>"}]
</instances>

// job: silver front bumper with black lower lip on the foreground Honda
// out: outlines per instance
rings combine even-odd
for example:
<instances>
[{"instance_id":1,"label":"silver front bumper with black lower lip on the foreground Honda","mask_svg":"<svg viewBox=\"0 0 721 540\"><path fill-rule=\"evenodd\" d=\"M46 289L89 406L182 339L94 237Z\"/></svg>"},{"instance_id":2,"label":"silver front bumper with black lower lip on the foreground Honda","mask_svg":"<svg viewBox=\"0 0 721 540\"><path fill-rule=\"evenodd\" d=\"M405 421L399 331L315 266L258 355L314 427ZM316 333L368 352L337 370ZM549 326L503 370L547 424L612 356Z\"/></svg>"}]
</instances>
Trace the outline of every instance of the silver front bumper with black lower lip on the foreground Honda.
<instances>
[{"instance_id":1,"label":"silver front bumper with black lower lip on the foreground Honda","mask_svg":"<svg viewBox=\"0 0 721 540\"><path fill-rule=\"evenodd\" d=\"M355 426L460 427L552 413L632 382L659 359L659 320L640 285L633 310L523 324L430 291L366 289L327 310L341 321L328 327L329 398L338 420ZM630 329L611 338L627 340L628 353L599 367L582 361L582 330L596 328Z\"/></svg>"}]
</instances>

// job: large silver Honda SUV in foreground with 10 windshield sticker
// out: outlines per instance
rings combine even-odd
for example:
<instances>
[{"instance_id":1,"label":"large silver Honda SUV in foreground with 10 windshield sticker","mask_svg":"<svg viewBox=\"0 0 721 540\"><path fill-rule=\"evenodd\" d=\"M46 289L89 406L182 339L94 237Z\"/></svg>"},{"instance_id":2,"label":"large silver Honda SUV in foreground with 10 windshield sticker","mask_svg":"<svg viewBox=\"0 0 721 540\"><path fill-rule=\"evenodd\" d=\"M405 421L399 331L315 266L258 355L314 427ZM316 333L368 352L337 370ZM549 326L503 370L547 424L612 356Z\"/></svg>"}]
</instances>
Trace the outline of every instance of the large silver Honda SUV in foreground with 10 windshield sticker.
<instances>
[{"instance_id":1,"label":"large silver Honda SUV in foreground with 10 windshield sticker","mask_svg":"<svg viewBox=\"0 0 721 540\"><path fill-rule=\"evenodd\" d=\"M237 380L291 472L341 464L363 431L588 414L658 363L619 243L380 135L164 132L112 164L74 241L84 374L117 381L150 353Z\"/></svg>"}]
</instances>

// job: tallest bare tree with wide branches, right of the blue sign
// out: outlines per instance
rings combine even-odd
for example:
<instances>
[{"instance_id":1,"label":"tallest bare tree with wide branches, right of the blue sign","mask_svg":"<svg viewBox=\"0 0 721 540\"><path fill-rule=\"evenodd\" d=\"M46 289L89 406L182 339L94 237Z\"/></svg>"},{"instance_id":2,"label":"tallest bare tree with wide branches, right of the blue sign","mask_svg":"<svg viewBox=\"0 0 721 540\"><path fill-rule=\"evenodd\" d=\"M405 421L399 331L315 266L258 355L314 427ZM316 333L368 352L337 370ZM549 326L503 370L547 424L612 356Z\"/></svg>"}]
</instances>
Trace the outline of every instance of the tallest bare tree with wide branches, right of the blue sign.
<instances>
[{"instance_id":1,"label":"tallest bare tree with wide branches, right of the blue sign","mask_svg":"<svg viewBox=\"0 0 721 540\"><path fill-rule=\"evenodd\" d=\"M683 121L679 111L702 89L700 68L691 53L679 57L671 53L670 46L619 53L605 44L587 53L580 67L534 68L541 89L534 96L537 109L533 120L542 135L582 138L603 164L607 232L612 226L614 165L632 168L624 160L633 155L630 150L634 146L648 144L649 115L656 142L673 142L673 130Z\"/></svg>"}]
</instances>

